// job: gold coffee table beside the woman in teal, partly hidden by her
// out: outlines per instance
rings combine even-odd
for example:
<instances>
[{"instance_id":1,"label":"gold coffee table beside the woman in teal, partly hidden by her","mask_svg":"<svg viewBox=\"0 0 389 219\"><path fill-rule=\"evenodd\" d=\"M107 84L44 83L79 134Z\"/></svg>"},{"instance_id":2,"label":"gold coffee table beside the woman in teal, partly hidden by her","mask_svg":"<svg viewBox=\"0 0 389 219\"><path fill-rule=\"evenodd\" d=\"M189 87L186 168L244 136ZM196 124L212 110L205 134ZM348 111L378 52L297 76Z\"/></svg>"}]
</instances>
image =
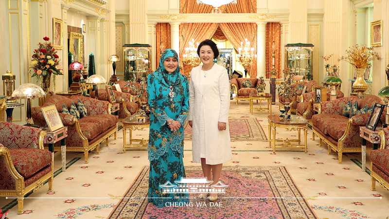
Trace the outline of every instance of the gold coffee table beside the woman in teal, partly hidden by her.
<instances>
[{"instance_id":1,"label":"gold coffee table beside the woman in teal, partly hidden by her","mask_svg":"<svg viewBox=\"0 0 389 219\"><path fill-rule=\"evenodd\" d=\"M123 152L125 153L126 147L138 147L138 146L147 146L149 141L144 139L132 139L132 130L143 130L143 128L150 127L150 119L146 119L144 122L138 121L139 115L127 116L123 121ZM125 132L126 129L130 130L130 144L126 144ZM133 145L132 142L139 142L137 145Z\"/></svg>"}]
</instances>

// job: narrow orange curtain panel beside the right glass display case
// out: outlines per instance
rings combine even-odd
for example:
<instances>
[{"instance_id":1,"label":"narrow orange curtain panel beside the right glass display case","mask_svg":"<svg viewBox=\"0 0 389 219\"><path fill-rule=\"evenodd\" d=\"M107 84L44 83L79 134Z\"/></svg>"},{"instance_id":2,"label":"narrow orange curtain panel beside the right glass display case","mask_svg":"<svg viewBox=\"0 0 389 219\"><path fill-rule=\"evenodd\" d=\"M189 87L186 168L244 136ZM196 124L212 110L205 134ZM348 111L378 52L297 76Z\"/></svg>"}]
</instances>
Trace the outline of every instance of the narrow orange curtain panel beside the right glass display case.
<instances>
[{"instance_id":1,"label":"narrow orange curtain panel beside the right glass display case","mask_svg":"<svg viewBox=\"0 0 389 219\"><path fill-rule=\"evenodd\" d=\"M281 77L281 24L280 23L267 23L266 24L266 55L265 55L265 72L266 78L271 77L271 70L273 69L273 45L275 51L275 66L277 70L277 78Z\"/></svg>"}]
</instances>

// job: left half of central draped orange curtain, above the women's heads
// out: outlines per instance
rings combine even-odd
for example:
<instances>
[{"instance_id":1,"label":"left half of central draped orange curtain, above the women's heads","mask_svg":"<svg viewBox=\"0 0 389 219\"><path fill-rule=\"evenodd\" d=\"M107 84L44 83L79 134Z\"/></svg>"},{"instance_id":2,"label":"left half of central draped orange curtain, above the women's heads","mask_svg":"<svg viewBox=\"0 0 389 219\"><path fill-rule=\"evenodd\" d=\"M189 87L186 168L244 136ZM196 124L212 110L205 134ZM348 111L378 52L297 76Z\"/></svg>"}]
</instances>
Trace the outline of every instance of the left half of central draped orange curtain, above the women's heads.
<instances>
[{"instance_id":1,"label":"left half of central draped orange curtain, above the women's heads","mask_svg":"<svg viewBox=\"0 0 389 219\"><path fill-rule=\"evenodd\" d=\"M189 76L193 66L184 65L181 61L185 54L185 47L189 46L189 41L195 40L200 43L204 39L211 39L217 28L217 23L182 23L179 25L179 56L181 73Z\"/></svg>"}]
</instances>

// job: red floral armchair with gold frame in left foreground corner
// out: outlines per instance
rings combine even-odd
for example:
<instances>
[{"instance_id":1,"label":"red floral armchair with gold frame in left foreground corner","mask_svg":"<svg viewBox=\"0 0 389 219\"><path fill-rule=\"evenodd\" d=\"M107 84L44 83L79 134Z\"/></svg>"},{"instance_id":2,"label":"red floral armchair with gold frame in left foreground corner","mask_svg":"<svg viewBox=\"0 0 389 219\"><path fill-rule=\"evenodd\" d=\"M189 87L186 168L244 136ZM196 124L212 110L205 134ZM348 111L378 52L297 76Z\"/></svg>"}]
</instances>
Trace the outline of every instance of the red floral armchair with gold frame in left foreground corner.
<instances>
[{"instance_id":1,"label":"red floral armchair with gold frame in left foreground corner","mask_svg":"<svg viewBox=\"0 0 389 219\"><path fill-rule=\"evenodd\" d=\"M0 122L0 196L18 198L23 214L24 196L46 180L53 190L52 153L43 149L46 131Z\"/></svg>"}]
</instances>

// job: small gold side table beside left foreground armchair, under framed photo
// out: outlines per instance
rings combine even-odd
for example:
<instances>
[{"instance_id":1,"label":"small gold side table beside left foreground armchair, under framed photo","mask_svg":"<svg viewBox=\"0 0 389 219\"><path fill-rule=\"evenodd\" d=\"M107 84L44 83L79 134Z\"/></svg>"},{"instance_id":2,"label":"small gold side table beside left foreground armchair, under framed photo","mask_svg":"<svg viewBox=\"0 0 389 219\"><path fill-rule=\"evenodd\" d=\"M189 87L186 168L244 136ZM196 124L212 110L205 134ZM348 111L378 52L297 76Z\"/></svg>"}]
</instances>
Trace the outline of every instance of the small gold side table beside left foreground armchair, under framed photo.
<instances>
[{"instance_id":1,"label":"small gold side table beside left foreground armchair, under framed photo","mask_svg":"<svg viewBox=\"0 0 389 219\"><path fill-rule=\"evenodd\" d=\"M53 132L47 132L43 139L44 144L49 144L49 150L52 152L54 162L54 143L61 141L62 172L66 170L66 137L68 137L68 127L58 128ZM54 168L54 167L53 167Z\"/></svg>"}]
</instances>

